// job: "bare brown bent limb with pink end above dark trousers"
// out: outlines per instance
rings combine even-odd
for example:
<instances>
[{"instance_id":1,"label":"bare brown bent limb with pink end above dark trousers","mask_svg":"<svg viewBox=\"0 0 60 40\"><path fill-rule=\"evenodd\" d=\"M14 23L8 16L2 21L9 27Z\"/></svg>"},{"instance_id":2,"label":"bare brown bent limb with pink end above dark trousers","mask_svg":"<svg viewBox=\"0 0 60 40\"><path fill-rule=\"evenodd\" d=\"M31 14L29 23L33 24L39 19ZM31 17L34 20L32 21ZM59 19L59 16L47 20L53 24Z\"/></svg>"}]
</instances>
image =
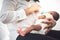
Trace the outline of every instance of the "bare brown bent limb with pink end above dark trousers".
<instances>
[{"instance_id":1,"label":"bare brown bent limb with pink end above dark trousers","mask_svg":"<svg viewBox=\"0 0 60 40\"><path fill-rule=\"evenodd\" d=\"M39 25L31 25L30 27L26 28L24 31L22 31L21 28L18 29L18 33L21 36L25 36L26 34L30 33L32 30L39 31L41 27Z\"/></svg>"}]
</instances>

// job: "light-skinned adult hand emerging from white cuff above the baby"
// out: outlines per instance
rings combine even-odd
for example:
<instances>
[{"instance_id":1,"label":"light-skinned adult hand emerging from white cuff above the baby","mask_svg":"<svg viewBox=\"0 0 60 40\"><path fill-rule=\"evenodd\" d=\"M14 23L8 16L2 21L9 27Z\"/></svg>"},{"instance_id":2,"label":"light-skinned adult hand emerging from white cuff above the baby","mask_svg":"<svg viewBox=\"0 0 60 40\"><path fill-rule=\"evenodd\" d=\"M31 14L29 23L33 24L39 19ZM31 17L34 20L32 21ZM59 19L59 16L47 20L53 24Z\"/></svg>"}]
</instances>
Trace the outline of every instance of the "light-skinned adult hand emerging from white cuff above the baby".
<instances>
[{"instance_id":1,"label":"light-skinned adult hand emerging from white cuff above the baby","mask_svg":"<svg viewBox=\"0 0 60 40\"><path fill-rule=\"evenodd\" d=\"M25 9L27 15L31 14L32 12L39 12L40 5L34 3L29 8Z\"/></svg>"}]
</instances>

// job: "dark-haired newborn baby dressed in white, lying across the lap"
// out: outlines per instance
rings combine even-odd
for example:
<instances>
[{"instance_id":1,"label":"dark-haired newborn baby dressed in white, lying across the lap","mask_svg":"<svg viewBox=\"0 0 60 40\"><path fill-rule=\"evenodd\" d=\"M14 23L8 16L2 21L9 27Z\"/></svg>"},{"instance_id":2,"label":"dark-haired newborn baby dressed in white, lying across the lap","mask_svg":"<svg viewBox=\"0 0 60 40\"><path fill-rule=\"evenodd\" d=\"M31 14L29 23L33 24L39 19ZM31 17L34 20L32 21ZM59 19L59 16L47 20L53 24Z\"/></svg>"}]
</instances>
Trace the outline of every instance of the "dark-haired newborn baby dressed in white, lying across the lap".
<instances>
[{"instance_id":1,"label":"dark-haired newborn baby dressed in white, lying across the lap","mask_svg":"<svg viewBox=\"0 0 60 40\"><path fill-rule=\"evenodd\" d=\"M56 22L59 18L59 15L57 12L55 11L49 11L49 12L45 12L42 15L37 15L38 19L35 21L35 25L40 25L42 27L42 29L38 32L39 34L46 34L47 29L45 29L45 27L47 26L47 24L42 23L44 21L51 21L52 19L54 19L53 22L53 26L55 26Z\"/></svg>"}]
</instances>

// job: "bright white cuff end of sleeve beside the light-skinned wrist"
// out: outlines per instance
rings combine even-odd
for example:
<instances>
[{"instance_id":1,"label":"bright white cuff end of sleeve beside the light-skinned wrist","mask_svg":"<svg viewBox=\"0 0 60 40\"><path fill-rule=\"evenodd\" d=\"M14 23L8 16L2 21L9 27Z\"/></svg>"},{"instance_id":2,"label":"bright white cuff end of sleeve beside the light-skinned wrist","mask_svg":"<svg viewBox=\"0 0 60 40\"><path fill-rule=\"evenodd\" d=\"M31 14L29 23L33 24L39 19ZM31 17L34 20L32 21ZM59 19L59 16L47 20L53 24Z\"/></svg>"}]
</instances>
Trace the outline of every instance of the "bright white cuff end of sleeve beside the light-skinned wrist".
<instances>
[{"instance_id":1,"label":"bright white cuff end of sleeve beside the light-skinned wrist","mask_svg":"<svg viewBox=\"0 0 60 40\"><path fill-rule=\"evenodd\" d=\"M25 19L27 16L25 14L25 11L23 9L19 10L19 11L13 11L13 19L11 21L19 21L19 20L23 20Z\"/></svg>"}]
</instances>

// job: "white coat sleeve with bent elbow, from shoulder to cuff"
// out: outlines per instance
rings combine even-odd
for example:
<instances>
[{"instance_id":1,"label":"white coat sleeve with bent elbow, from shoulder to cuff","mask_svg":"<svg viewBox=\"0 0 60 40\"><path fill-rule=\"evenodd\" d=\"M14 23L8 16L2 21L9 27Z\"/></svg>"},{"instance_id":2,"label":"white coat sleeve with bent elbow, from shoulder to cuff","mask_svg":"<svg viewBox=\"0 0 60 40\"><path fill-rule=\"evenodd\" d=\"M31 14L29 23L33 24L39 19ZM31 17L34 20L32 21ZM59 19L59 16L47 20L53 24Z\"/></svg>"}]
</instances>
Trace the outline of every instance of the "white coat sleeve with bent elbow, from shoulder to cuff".
<instances>
[{"instance_id":1,"label":"white coat sleeve with bent elbow, from shoulder to cuff","mask_svg":"<svg viewBox=\"0 0 60 40\"><path fill-rule=\"evenodd\" d=\"M0 21L4 23L15 22L26 18L24 9L16 10L17 1L4 0L0 13Z\"/></svg>"}]
</instances>

